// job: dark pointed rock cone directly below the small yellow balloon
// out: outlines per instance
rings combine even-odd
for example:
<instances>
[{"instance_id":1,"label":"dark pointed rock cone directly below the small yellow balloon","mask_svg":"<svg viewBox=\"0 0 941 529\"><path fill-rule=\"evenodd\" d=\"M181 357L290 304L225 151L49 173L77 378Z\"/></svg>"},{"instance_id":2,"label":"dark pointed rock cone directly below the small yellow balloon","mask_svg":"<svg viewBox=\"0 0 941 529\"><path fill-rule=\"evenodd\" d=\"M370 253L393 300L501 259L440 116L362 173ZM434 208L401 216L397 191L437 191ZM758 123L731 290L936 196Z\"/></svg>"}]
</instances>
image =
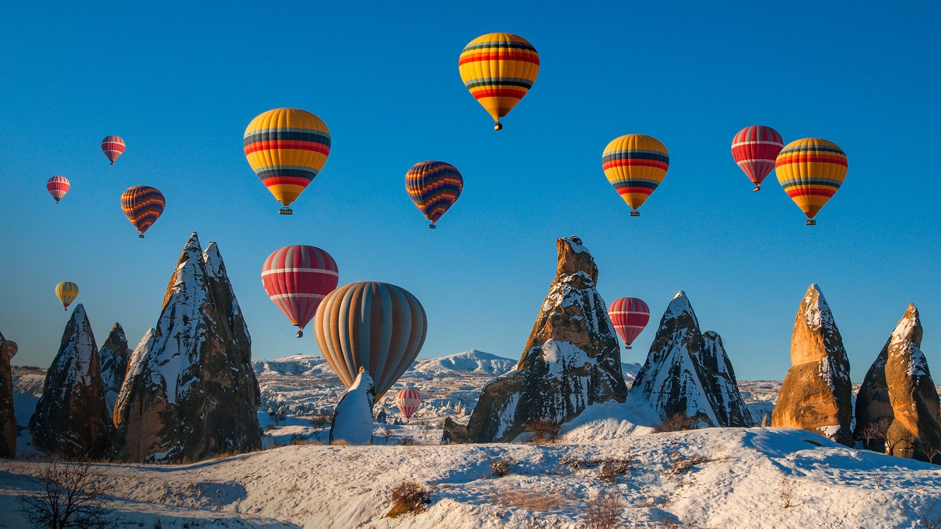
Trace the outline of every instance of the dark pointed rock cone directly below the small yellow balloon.
<instances>
[{"instance_id":1,"label":"dark pointed rock cone directly below the small yellow balloon","mask_svg":"<svg viewBox=\"0 0 941 529\"><path fill-rule=\"evenodd\" d=\"M51 456L102 457L111 441L101 359L79 303L29 419L33 446Z\"/></svg>"}]
</instances>

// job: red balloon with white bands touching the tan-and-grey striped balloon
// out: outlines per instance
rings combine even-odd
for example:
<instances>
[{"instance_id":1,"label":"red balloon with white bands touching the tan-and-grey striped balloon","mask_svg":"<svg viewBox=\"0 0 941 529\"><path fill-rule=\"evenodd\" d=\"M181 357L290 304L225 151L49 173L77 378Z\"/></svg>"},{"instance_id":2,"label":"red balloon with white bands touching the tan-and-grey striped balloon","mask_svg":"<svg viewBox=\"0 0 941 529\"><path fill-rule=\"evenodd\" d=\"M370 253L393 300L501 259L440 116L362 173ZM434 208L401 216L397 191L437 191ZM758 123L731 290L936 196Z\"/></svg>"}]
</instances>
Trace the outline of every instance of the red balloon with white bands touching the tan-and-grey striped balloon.
<instances>
[{"instance_id":1,"label":"red balloon with white bands touching the tan-and-grey striped balloon","mask_svg":"<svg viewBox=\"0 0 941 529\"><path fill-rule=\"evenodd\" d=\"M297 338L316 313L321 299L337 287L337 264L326 251L295 245L279 248L262 264L264 292L278 305L291 325L299 328Z\"/></svg>"}]
</instances>

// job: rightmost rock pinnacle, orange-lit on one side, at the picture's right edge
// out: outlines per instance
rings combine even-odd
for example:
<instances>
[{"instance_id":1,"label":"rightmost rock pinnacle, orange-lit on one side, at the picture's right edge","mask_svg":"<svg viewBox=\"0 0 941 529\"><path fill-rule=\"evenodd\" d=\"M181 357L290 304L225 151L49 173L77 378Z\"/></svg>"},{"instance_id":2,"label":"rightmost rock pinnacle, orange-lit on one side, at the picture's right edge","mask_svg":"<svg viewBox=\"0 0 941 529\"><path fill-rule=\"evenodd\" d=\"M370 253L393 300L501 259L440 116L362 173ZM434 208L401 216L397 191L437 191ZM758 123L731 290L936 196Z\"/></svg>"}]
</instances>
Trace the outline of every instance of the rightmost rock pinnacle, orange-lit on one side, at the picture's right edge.
<instances>
[{"instance_id":1,"label":"rightmost rock pinnacle, orange-lit on one side, at the picture's right edge","mask_svg":"<svg viewBox=\"0 0 941 529\"><path fill-rule=\"evenodd\" d=\"M941 459L938 393L920 346L921 320L909 304L856 395L855 436L869 450Z\"/></svg>"}]
</instances>

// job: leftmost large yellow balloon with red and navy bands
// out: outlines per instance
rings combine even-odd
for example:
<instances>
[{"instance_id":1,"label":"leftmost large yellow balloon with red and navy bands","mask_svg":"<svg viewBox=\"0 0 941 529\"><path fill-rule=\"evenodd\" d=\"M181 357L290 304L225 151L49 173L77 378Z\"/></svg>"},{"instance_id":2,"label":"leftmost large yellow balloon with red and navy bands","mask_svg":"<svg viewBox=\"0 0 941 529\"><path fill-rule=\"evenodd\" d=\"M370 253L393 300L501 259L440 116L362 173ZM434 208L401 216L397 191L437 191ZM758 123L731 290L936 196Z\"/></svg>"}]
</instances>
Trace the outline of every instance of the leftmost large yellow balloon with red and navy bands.
<instances>
[{"instance_id":1,"label":"leftmost large yellow balloon with red and navy bands","mask_svg":"<svg viewBox=\"0 0 941 529\"><path fill-rule=\"evenodd\" d=\"M245 129L245 156L262 184L288 206L327 163L330 131L323 120L300 108L275 108L260 114Z\"/></svg>"}]
</instances>

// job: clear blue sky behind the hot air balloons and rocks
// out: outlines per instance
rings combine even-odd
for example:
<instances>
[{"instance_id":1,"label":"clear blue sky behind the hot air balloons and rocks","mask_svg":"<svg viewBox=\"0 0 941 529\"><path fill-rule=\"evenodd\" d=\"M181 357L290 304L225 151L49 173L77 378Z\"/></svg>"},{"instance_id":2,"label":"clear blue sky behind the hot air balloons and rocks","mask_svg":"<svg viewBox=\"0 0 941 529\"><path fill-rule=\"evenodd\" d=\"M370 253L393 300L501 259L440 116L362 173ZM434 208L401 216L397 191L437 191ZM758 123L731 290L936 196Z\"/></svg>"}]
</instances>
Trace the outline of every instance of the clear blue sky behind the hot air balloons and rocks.
<instances>
[{"instance_id":1,"label":"clear blue sky behind the hot air balloons and rocks","mask_svg":"<svg viewBox=\"0 0 941 529\"><path fill-rule=\"evenodd\" d=\"M624 361L644 360L682 289L739 377L782 378L798 303L817 282L854 380L910 301L941 369L936 4L26 4L7 8L0 32L0 330L20 345L15 363L55 356L63 280L80 286L99 345L114 321L136 344L197 231L222 252L255 358L318 352L264 294L263 259L281 246L326 249L341 283L412 292L428 313L422 357L518 358L554 240L577 234L601 296L641 297L653 313ZM492 31L530 40L542 63L500 133L457 72L463 46ZM332 136L288 217L242 152L248 121L279 106L310 110ZM729 143L752 124L847 153L818 226L805 227L774 174L751 191ZM630 133L671 157L639 218L600 168L608 141ZM99 147L111 134L128 145L114 167ZM465 178L437 231L405 191L426 159ZM44 188L55 174L72 181L57 206ZM137 184L167 197L144 240L120 211Z\"/></svg>"}]
</instances>

